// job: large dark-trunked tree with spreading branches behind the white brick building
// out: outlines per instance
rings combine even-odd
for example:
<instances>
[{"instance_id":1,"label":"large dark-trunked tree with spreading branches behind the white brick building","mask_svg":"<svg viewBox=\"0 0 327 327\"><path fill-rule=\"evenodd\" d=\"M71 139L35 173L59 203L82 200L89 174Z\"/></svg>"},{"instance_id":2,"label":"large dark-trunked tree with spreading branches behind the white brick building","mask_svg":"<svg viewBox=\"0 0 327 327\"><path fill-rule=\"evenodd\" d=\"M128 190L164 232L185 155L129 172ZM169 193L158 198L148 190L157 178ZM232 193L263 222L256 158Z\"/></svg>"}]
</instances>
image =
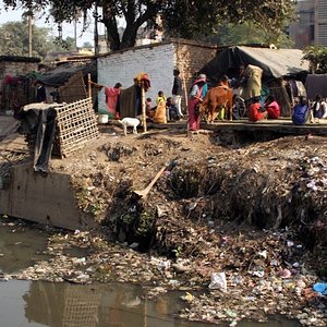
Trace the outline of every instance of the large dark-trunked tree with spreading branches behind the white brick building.
<instances>
[{"instance_id":1,"label":"large dark-trunked tree with spreading branches behind the white brick building","mask_svg":"<svg viewBox=\"0 0 327 327\"><path fill-rule=\"evenodd\" d=\"M171 36L184 38L211 35L227 23L252 22L266 31L269 40L278 43L286 22L293 15L294 0L3 0L7 7L21 5L28 10L45 10L51 4L50 14L57 23L72 22L77 11L89 10L105 24L112 50L133 47L140 27L159 27L161 15L164 27ZM99 16L95 8L102 8ZM119 22L125 22L123 35L119 34Z\"/></svg>"}]
</instances>

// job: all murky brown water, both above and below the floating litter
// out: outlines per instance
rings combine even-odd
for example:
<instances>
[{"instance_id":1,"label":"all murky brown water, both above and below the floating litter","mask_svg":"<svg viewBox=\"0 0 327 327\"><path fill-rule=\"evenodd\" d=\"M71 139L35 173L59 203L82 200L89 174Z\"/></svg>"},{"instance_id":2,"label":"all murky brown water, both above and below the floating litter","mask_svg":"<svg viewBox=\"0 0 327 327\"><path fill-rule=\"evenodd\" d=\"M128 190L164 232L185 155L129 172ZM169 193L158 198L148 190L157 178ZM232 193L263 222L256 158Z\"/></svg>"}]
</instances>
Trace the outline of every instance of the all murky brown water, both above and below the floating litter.
<instances>
[{"instance_id":1,"label":"all murky brown water, both above and below the floating litter","mask_svg":"<svg viewBox=\"0 0 327 327\"><path fill-rule=\"evenodd\" d=\"M47 234L20 226L0 226L0 269L12 272L43 256ZM72 284L10 280L0 282L0 327L208 327L177 319L181 293L156 301L142 300L142 289L130 284ZM216 325L217 326L217 325ZM222 324L220 326L228 326ZM298 327L271 318L269 323L240 323L240 327Z\"/></svg>"}]
</instances>

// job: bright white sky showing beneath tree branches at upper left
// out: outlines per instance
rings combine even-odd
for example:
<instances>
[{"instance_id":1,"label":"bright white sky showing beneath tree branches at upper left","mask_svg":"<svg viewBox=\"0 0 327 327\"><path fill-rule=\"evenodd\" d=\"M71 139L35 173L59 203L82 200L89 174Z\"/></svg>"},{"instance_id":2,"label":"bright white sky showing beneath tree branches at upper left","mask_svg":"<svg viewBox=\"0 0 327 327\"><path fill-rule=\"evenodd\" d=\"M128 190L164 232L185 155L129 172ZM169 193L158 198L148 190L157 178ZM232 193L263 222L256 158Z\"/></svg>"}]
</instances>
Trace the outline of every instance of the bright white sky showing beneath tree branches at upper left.
<instances>
[{"instance_id":1,"label":"bright white sky showing beneath tree branches at upper left","mask_svg":"<svg viewBox=\"0 0 327 327\"><path fill-rule=\"evenodd\" d=\"M7 23L7 22L13 22L13 21L21 21L22 14L24 13L23 10L10 10L4 11L3 9L3 2L0 0L0 25ZM90 17L90 24L84 33L82 33L83 28L83 22L77 23L76 25L76 35L77 35L77 47L82 47L84 43L88 41L92 45L94 45L94 21L89 14ZM46 23L45 17L41 16L41 14L37 14L35 17L35 24L39 27L49 27L55 36L58 36L58 29L57 25L53 22ZM98 33L104 34L104 25L98 24ZM65 39L68 36L74 37L74 24L64 23L62 28L62 37Z\"/></svg>"}]
</instances>

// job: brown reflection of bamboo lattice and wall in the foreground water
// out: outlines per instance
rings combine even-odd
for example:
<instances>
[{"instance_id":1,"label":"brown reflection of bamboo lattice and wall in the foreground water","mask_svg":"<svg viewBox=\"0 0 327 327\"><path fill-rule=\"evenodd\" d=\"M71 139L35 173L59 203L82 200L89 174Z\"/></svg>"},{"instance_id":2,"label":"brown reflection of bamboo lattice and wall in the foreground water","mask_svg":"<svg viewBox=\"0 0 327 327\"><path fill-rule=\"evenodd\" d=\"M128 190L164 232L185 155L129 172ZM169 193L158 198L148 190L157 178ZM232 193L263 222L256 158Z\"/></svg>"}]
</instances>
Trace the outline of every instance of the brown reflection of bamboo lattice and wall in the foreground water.
<instances>
[{"instance_id":1,"label":"brown reflection of bamboo lattice and wall in the foreground water","mask_svg":"<svg viewBox=\"0 0 327 327\"><path fill-rule=\"evenodd\" d=\"M141 289L126 284L69 284L35 281L23 298L28 320L45 326L207 326L175 323L177 300L143 301Z\"/></svg>"}]
</instances>

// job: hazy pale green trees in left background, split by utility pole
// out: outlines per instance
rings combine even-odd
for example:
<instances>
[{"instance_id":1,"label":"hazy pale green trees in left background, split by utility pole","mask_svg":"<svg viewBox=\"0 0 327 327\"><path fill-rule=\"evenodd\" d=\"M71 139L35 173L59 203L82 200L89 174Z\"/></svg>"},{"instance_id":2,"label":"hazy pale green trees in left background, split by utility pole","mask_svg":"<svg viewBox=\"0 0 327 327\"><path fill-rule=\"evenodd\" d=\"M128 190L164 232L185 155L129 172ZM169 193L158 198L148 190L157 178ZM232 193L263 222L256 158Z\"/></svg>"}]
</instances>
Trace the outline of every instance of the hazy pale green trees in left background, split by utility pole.
<instances>
[{"instance_id":1,"label":"hazy pale green trees in left background, split by utility pole","mask_svg":"<svg viewBox=\"0 0 327 327\"><path fill-rule=\"evenodd\" d=\"M28 34L27 21L8 22L0 26L0 55L1 56L27 56L28 55ZM73 45L74 39L68 43ZM50 28L33 26L32 38L33 57L44 59L48 52L62 51L61 46L56 45L56 39L51 35Z\"/></svg>"}]
</instances>

